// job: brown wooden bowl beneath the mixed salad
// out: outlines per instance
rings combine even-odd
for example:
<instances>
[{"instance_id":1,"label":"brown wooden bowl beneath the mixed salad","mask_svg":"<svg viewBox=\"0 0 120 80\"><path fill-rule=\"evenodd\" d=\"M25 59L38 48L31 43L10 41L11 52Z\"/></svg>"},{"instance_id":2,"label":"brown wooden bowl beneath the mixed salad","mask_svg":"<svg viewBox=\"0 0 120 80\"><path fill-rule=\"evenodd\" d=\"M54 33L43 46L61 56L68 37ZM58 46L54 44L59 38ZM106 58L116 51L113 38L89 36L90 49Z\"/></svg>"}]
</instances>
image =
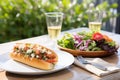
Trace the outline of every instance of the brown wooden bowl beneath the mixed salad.
<instances>
[{"instance_id":1,"label":"brown wooden bowl beneath the mixed salad","mask_svg":"<svg viewBox=\"0 0 120 80\"><path fill-rule=\"evenodd\" d=\"M79 50L72 50L72 49L68 49L68 48L63 48L61 46L58 46L59 49L69 52L74 56L83 56L83 57L106 57L109 55L112 55L114 53L109 53L107 51L79 51Z\"/></svg>"}]
</instances>

